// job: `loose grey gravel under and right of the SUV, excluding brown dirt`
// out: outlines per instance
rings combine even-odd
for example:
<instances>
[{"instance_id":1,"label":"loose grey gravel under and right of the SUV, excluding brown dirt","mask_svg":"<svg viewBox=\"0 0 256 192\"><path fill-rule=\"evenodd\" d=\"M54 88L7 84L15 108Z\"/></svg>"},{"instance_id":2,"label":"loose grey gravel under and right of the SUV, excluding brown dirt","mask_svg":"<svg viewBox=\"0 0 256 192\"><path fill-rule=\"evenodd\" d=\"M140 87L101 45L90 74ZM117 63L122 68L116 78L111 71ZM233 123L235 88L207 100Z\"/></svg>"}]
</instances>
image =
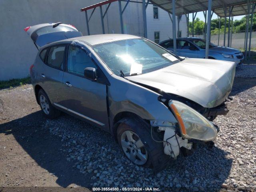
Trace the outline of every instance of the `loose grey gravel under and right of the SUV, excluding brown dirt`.
<instances>
[{"instance_id":1,"label":"loose grey gravel under and right of the SUV, excluding brown dirt","mask_svg":"<svg viewBox=\"0 0 256 192\"><path fill-rule=\"evenodd\" d=\"M220 127L214 148L198 145L192 156L179 156L156 176L151 169L124 158L110 134L85 122L65 115L47 120L44 127L62 138L60 150L68 152L66 160L83 174L90 174L94 187L255 191L256 86L236 86L231 95L228 115L214 120Z\"/></svg>"}]
</instances>

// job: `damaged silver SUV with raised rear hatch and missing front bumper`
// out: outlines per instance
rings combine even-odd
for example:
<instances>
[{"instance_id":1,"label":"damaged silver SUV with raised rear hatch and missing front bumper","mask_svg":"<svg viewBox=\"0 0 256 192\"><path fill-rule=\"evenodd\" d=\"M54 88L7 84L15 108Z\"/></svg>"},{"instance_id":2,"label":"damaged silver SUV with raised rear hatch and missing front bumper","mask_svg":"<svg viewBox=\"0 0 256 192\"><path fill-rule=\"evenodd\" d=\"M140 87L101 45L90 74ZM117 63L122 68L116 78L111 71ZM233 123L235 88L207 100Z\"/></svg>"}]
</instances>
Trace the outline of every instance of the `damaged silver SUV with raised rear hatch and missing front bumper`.
<instances>
[{"instance_id":1,"label":"damaged silver SUV with raised rear hatch and missing front bumper","mask_svg":"<svg viewBox=\"0 0 256 192\"><path fill-rule=\"evenodd\" d=\"M26 32L39 48L30 75L46 117L63 111L110 132L130 161L155 172L195 143L213 144L234 62L181 58L127 34L81 36L61 23Z\"/></svg>"}]
</instances>

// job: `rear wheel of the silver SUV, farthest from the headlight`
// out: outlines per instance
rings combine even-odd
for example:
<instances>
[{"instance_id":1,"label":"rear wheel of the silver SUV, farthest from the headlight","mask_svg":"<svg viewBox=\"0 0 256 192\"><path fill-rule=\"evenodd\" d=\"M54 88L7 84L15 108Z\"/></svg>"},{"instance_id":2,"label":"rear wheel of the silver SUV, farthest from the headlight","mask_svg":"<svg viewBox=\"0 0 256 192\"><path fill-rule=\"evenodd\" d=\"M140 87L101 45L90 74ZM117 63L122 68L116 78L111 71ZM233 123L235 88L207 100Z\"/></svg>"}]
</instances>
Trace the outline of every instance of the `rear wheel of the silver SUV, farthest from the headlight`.
<instances>
[{"instance_id":1,"label":"rear wheel of the silver SUV, farthest from the headlight","mask_svg":"<svg viewBox=\"0 0 256 192\"><path fill-rule=\"evenodd\" d=\"M52 106L46 92L42 89L38 92L38 101L42 109L42 113L46 118L54 119L60 116L60 111Z\"/></svg>"}]
</instances>

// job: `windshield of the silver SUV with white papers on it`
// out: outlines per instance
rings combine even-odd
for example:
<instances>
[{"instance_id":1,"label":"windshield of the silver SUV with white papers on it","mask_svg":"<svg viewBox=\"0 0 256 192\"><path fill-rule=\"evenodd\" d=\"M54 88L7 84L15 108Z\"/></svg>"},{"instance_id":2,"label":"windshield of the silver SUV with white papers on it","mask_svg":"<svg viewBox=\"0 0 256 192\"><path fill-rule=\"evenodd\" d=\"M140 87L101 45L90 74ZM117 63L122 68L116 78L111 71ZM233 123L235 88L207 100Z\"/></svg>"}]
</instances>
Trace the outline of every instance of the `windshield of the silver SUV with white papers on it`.
<instances>
[{"instance_id":1,"label":"windshield of the silver SUV with white papers on it","mask_svg":"<svg viewBox=\"0 0 256 192\"><path fill-rule=\"evenodd\" d=\"M101 44L94 46L94 50L119 76L145 74L180 62L176 56L142 38Z\"/></svg>"}]
</instances>

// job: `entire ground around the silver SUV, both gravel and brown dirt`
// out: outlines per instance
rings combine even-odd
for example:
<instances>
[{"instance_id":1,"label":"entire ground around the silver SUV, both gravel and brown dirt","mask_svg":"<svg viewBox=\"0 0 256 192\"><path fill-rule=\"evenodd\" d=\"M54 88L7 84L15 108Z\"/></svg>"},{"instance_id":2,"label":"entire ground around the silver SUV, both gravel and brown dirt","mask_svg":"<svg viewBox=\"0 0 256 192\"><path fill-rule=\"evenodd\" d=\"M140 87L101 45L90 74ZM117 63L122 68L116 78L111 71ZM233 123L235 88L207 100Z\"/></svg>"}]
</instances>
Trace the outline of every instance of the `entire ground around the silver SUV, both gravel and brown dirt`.
<instances>
[{"instance_id":1,"label":"entire ground around the silver SUV, both gravel and brown dirt","mask_svg":"<svg viewBox=\"0 0 256 192\"><path fill-rule=\"evenodd\" d=\"M240 77L244 70L251 68L243 66ZM45 119L31 85L1 90L0 186L256 191L256 78L237 78L231 98L230 112L214 120L220 127L214 148L198 145L153 175L124 158L99 128L66 114Z\"/></svg>"}]
</instances>

